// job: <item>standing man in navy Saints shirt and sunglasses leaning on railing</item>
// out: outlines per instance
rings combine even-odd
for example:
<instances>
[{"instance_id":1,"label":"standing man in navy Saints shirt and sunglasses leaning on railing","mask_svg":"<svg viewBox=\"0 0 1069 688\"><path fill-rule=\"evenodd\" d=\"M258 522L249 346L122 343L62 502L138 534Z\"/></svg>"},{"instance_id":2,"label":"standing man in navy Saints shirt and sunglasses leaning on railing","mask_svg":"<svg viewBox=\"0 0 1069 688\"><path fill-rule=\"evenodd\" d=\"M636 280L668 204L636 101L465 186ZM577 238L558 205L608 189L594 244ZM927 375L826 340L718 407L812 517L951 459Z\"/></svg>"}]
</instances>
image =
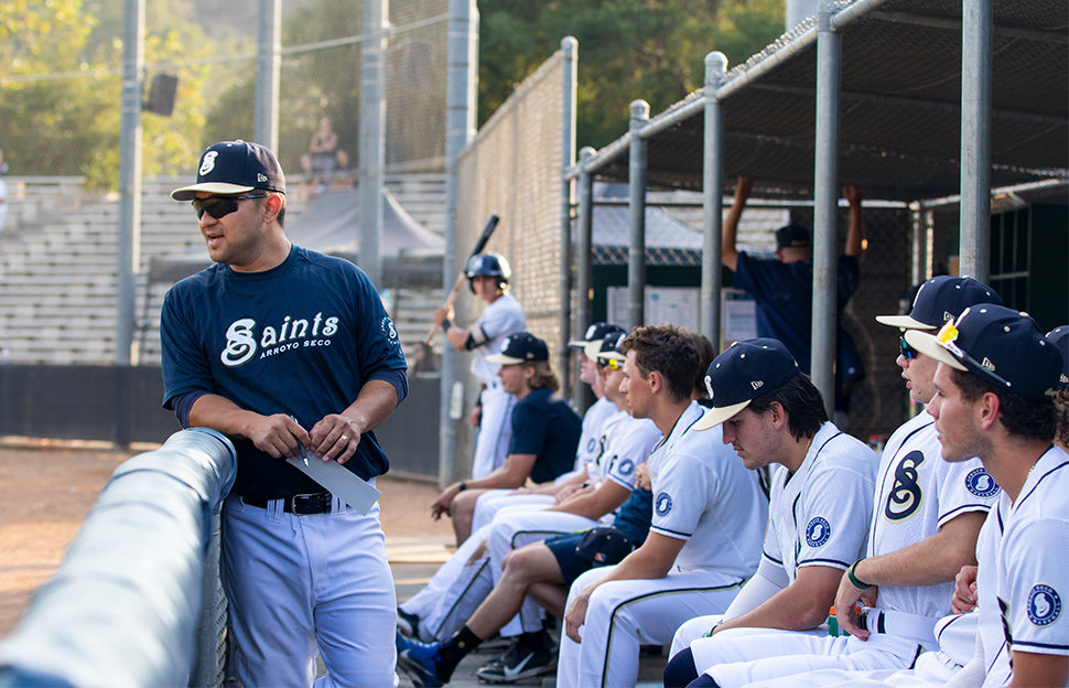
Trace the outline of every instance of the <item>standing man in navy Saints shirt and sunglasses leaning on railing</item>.
<instances>
[{"instance_id":1,"label":"standing man in navy Saints shirt and sunglasses leaning on railing","mask_svg":"<svg viewBox=\"0 0 1069 688\"><path fill-rule=\"evenodd\" d=\"M393 322L367 276L293 246L285 179L257 143L201 155L192 201L216 265L163 303L164 406L238 452L223 513L223 583L245 686L389 686L393 581L378 506L364 515L285 462L336 461L374 481L371 432L407 393Z\"/></svg>"}]
</instances>

